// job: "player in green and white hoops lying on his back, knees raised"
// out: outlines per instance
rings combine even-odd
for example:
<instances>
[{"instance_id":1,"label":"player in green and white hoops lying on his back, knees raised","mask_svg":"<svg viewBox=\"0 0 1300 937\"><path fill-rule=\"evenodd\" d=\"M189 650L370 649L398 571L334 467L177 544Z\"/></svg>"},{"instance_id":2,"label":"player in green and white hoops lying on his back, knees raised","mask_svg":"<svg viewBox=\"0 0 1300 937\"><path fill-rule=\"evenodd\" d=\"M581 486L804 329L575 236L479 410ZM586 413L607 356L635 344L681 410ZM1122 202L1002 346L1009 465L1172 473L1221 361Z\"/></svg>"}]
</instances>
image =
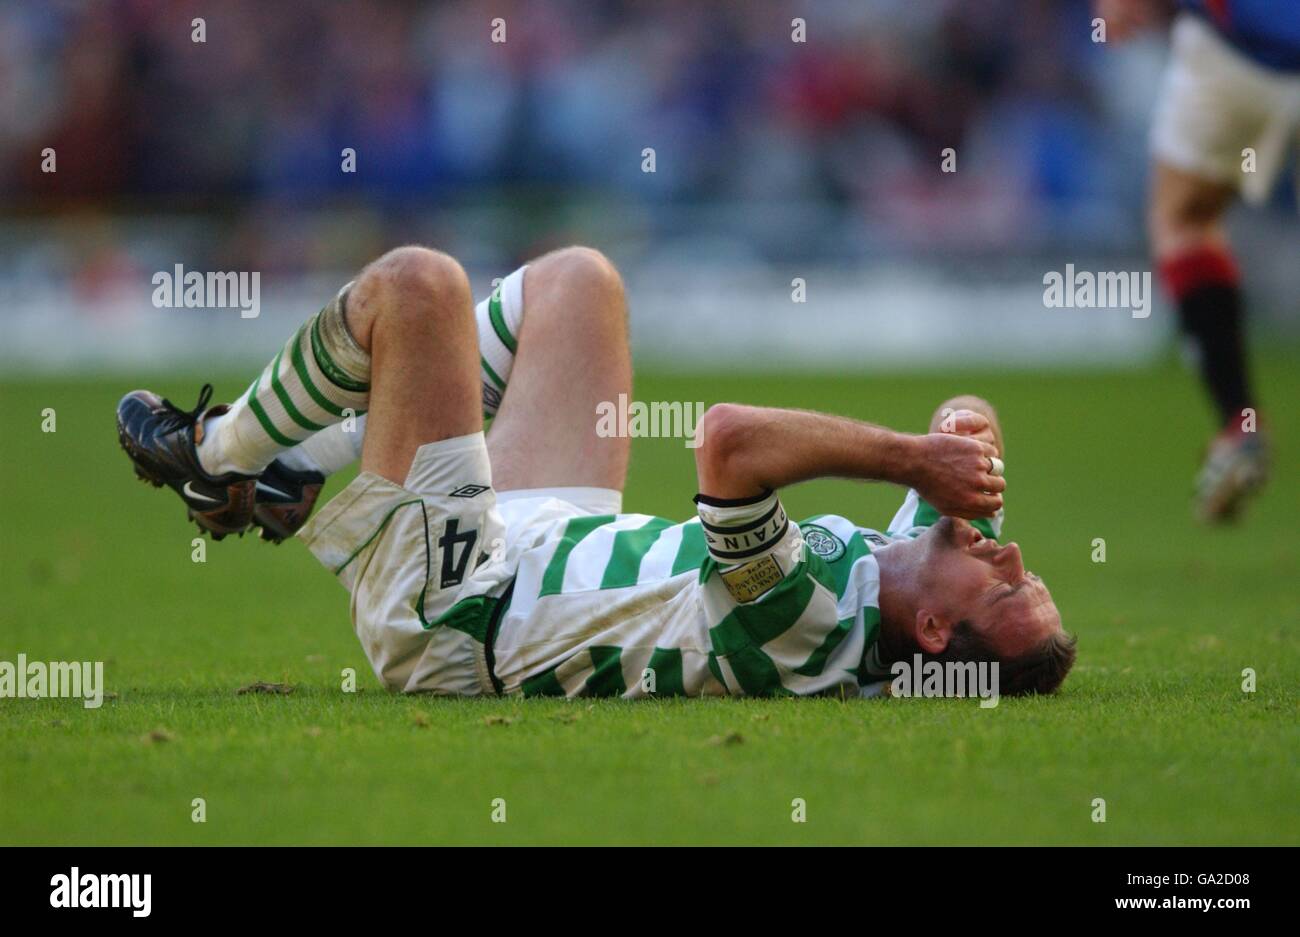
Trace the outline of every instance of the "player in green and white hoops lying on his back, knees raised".
<instances>
[{"instance_id":1,"label":"player in green and white hoops lying on his back, knees raised","mask_svg":"<svg viewBox=\"0 0 1300 937\"><path fill-rule=\"evenodd\" d=\"M627 309L588 248L477 308L455 260L391 251L235 403L211 394L188 412L121 400L136 473L216 537L296 533L396 690L866 695L922 654L997 661L1006 695L1050 693L1074 661L1046 586L994 539L1002 437L978 398L926 435L719 404L698 430L698 516L624 513L629 441L597 433L597 407L632 395ZM306 522L358 450L360 474ZM828 476L910 490L885 533L790 522L780 489Z\"/></svg>"}]
</instances>

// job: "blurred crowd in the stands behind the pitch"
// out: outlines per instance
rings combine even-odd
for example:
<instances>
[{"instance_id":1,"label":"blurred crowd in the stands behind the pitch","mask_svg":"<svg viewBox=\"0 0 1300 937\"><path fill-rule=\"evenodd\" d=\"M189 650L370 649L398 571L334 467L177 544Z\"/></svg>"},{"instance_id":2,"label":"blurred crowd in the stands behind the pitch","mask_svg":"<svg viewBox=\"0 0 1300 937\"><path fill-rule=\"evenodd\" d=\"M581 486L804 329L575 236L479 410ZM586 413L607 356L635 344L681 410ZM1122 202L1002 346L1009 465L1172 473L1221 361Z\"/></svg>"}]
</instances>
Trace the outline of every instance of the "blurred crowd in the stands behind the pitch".
<instances>
[{"instance_id":1,"label":"blurred crowd in the stands behind the pitch","mask_svg":"<svg viewBox=\"0 0 1300 937\"><path fill-rule=\"evenodd\" d=\"M346 272L412 240L498 273L577 240L630 276L1149 269L1165 38L1100 45L1091 17L1087 0L0 0L0 292L94 298L174 263ZM1256 216L1261 243L1294 229L1294 198Z\"/></svg>"}]
</instances>

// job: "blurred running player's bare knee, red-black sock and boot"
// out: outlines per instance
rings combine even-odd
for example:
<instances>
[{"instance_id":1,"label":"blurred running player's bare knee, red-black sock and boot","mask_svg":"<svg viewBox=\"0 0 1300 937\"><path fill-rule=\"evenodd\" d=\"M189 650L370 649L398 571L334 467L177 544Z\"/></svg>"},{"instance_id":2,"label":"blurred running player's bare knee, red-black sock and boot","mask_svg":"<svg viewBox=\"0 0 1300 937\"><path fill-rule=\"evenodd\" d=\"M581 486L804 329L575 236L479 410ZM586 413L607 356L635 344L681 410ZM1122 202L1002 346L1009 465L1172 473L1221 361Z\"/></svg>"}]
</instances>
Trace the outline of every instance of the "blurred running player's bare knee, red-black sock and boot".
<instances>
[{"instance_id":1,"label":"blurred running player's bare knee, red-black sock and boot","mask_svg":"<svg viewBox=\"0 0 1300 937\"><path fill-rule=\"evenodd\" d=\"M1206 521L1231 520L1268 477L1266 443L1252 416L1242 289L1223 230L1236 190L1158 160L1152 186L1150 239L1160 277L1178 305L1221 428L1197 481L1197 511Z\"/></svg>"}]
</instances>

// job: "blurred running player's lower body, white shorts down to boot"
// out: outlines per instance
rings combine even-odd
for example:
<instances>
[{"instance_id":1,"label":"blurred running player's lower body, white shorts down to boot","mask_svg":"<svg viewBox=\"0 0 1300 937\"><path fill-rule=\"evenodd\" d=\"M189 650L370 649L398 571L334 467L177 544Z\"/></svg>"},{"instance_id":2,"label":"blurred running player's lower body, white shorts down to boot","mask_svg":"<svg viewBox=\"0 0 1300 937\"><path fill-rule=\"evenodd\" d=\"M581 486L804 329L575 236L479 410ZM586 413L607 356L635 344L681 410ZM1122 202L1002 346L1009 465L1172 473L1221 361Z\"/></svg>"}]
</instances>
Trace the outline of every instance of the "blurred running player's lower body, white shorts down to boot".
<instances>
[{"instance_id":1,"label":"blurred running player's lower body, white shorts down to boot","mask_svg":"<svg viewBox=\"0 0 1300 937\"><path fill-rule=\"evenodd\" d=\"M1180 12L1152 125L1150 247L1221 428L1196 487L1212 522L1234 519L1268 477L1223 216L1239 196L1262 200L1286 165L1300 121L1300 45L1287 29L1273 8Z\"/></svg>"}]
</instances>

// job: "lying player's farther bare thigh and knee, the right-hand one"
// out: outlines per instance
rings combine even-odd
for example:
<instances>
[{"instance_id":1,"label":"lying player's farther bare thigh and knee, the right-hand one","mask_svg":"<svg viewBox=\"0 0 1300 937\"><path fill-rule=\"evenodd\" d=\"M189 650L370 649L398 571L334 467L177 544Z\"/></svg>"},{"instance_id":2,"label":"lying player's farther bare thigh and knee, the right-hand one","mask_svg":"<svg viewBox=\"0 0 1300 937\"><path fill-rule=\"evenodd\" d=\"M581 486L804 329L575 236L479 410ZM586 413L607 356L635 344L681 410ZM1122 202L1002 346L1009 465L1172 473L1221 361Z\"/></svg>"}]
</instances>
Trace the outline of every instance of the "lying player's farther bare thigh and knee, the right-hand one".
<instances>
[{"instance_id":1,"label":"lying player's farther bare thigh and knee, the right-hand one","mask_svg":"<svg viewBox=\"0 0 1300 937\"><path fill-rule=\"evenodd\" d=\"M632 395L627 300L597 251L566 248L524 272L524 321L488 434L493 486L623 489L628 439L597 434L597 407Z\"/></svg>"}]
</instances>

